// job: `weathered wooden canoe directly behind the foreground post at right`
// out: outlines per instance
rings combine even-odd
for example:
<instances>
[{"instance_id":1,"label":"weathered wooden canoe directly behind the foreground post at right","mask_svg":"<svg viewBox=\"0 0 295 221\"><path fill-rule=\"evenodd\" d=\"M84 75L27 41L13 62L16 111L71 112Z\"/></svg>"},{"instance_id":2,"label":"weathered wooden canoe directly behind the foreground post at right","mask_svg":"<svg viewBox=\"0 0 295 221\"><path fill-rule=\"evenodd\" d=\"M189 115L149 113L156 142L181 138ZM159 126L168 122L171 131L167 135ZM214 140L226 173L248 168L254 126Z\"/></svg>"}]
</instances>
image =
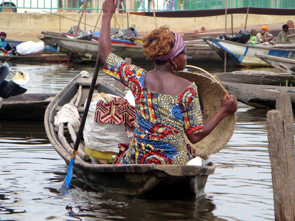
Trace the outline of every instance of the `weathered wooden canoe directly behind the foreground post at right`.
<instances>
[{"instance_id":1,"label":"weathered wooden canoe directly behind the foreground post at right","mask_svg":"<svg viewBox=\"0 0 295 221\"><path fill-rule=\"evenodd\" d=\"M281 91L287 91L291 99L292 108L295 108L295 87L240 84L221 81L229 94L237 100L255 108L276 108L276 100Z\"/></svg>"}]
</instances>

